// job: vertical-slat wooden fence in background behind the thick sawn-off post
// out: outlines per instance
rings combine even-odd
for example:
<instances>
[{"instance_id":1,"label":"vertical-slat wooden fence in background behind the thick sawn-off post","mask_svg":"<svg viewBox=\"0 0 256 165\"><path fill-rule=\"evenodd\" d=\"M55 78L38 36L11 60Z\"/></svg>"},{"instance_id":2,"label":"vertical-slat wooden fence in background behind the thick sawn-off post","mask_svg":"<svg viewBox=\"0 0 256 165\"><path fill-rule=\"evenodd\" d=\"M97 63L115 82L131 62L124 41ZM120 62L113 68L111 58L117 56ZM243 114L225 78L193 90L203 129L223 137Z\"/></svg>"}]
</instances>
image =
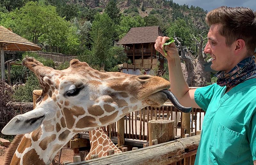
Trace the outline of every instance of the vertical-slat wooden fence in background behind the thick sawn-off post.
<instances>
[{"instance_id":1,"label":"vertical-slat wooden fence in background behind the thick sawn-off post","mask_svg":"<svg viewBox=\"0 0 256 165\"><path fill-rule=\"evenodd\" d=\"M180 111L175 108L170 102L166 102L163 106L159 108L148 106L141 109L140 111L127 114L124 117L124 138L146 140L148 142L148 121L158 119L174 120L177 123L175 125L175 136L180 136L182 138L185 135L185 133L182 134L183 131L181 131L184 130L184 128L182 128L182 123L184 123L183 114L184 113L180 113ZM190 123L190 130L186 133L201 130L201 120L202 117L204 117L205 112L199 108L192 108L190 114L191 118L189 117L188 119L185 119L189 120L188 122ZM110 137L117 137L117 122L111 124L111 126L106 126L105 129Z\"/></svg>"}]
</instances>

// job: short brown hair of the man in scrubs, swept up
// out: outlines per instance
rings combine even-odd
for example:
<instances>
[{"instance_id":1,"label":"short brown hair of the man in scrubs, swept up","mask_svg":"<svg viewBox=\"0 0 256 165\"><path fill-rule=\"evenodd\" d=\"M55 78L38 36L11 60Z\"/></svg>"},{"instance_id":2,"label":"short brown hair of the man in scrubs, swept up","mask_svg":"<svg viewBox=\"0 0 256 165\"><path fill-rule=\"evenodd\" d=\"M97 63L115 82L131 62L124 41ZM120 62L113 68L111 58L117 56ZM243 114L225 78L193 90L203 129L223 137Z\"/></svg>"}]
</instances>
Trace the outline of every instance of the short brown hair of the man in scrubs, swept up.
<instances>
[{"instance_id":1,"label":"short brown hair of the man in scrubs, swept up","mask_svg":"<svg viewBox=\"0 0 256 165\"><path fill-rule=\"evenodd\" d=\"M245 7L221 6L207 13L206 23L221 24L220 35L226 38L226 44L243 39L250 55L256 48L256 12Z\"/></svg>"}]
</instances>

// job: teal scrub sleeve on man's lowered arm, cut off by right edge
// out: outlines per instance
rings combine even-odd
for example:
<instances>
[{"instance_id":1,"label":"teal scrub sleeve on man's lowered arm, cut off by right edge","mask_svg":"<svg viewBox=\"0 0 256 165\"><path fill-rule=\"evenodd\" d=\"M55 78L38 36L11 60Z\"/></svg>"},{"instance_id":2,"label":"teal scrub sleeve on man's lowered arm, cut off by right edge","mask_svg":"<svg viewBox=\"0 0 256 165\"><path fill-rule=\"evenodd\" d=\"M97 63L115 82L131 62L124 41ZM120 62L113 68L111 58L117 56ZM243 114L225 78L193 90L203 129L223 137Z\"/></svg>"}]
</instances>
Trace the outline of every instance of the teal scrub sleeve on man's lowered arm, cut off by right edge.
<instances>
[{"instance_id":1,"label":"teal scrub sleeve on man's lowered arm, cut off by right edge","mask_svg":"<svg viewBox=\"0 0 256 165\"><path fill-rule=\"evenodd\" d=\"M256 109L254 109L254 114L252 115L249 131L248 131L248 139L250 142L251 152L252 152L252 160L256 160Z\"/></svg>"}]
</instances>

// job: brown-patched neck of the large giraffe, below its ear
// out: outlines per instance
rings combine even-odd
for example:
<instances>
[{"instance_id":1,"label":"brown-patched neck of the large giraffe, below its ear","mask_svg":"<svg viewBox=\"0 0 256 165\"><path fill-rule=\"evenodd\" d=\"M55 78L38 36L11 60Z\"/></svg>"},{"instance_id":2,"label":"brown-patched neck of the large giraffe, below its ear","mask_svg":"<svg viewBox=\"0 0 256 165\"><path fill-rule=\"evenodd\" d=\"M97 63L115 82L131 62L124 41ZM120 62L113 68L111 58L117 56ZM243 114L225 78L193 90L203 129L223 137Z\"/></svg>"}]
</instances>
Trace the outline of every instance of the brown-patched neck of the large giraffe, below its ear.
<instances>
[{"instance_id":1,"label":"brown-patched neck of the large giraffe, below its ear","mask_svg":"<svg viewBox=\"0 0 256 165\"><path fill-rule=\"evenodd\" d=\"M15 151L11 165L50 164L57 152L68 143L76 133L67 128L50 127L51 121L44 122L35 131L25 134Z\"/></svg>"}]
</instances>

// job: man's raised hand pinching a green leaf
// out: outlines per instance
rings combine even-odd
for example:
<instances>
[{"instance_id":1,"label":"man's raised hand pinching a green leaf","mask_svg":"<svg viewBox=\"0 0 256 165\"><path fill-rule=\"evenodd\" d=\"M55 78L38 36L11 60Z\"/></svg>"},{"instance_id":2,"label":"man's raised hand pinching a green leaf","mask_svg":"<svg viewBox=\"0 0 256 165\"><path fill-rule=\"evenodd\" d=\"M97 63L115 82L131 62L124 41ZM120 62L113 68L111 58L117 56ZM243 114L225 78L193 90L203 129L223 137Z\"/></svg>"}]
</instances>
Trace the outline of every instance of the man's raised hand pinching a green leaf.
<instances>
[{"instance_id":1,"label":"man's raised hand pinching a green leaf","mask_svg":"<svg viewBox=\"0 0 256 165\"><path fill-rule=\"evenodd\" d=\"M164 46L165 51L167 51L167 56L164 55L163 44L166 43L166 41L168 41L169 39L169 37L158 36L155 43L156 51L159 51L168 60L173 58L180 59L175 43Z\"/></svg>"}]
</instances>

